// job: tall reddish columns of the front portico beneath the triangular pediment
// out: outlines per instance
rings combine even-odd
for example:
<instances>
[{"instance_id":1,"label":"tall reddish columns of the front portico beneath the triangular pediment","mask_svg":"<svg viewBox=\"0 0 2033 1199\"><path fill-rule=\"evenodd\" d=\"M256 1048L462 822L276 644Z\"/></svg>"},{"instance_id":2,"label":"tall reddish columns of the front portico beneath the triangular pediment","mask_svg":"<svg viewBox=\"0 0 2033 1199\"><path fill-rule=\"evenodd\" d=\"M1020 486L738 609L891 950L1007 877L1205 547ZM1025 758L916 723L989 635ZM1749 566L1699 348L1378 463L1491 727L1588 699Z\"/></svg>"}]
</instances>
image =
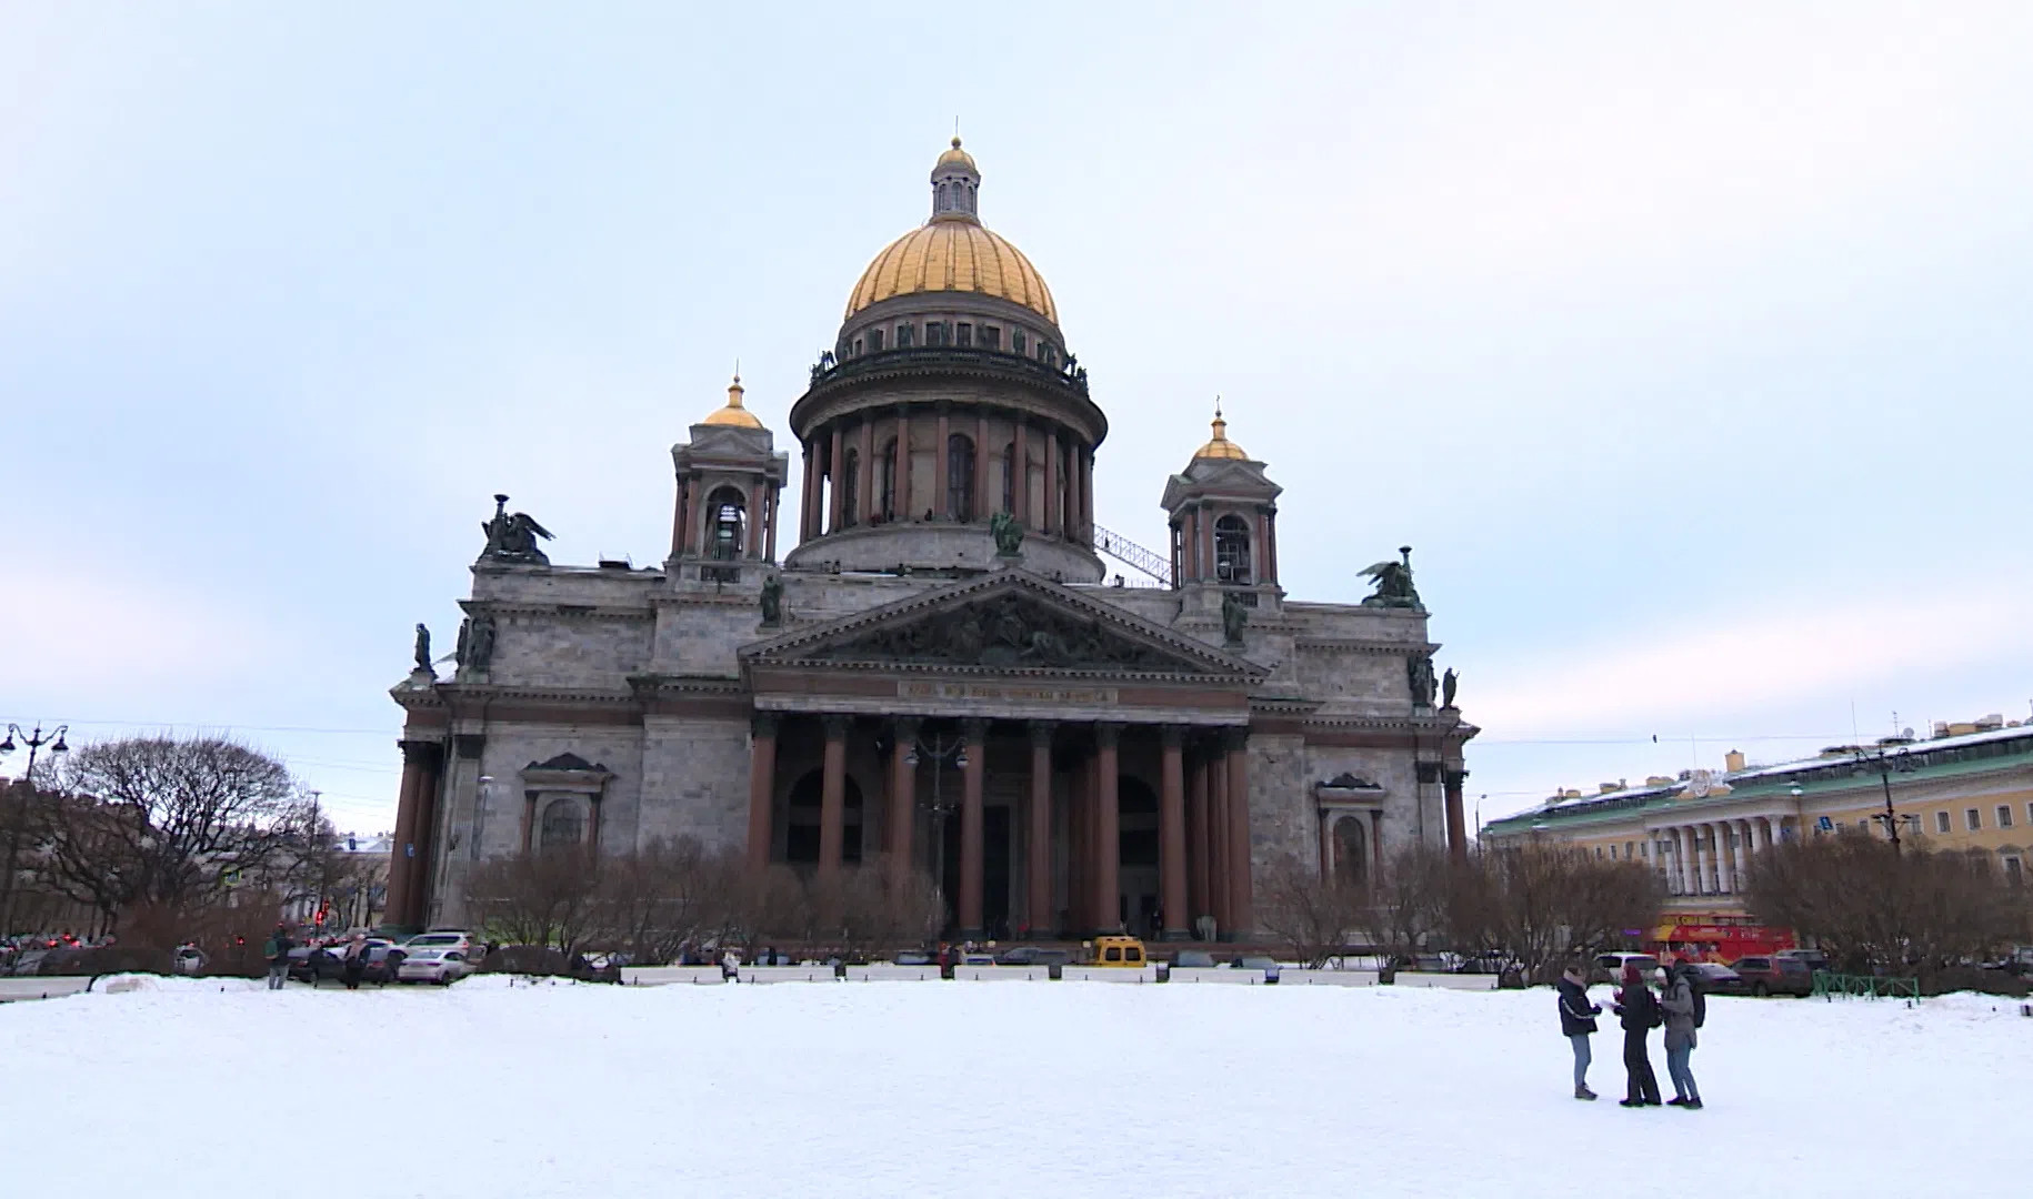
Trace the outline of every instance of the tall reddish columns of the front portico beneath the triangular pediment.
<instances>
[{"instance_id":1,"label":"tall reddish columns of the front portico beneath the triangular pediment","mask_svg":"<svg viewBox=\"0 0 2033 1199\"><path fill-rule=\"evenodd\" d=\"M748 760L748 866L768 868L771 821L777 791L779 715L758 713ZM846 760L850 717L819 717L825 732L819 788L819 870L840 870L846 833ZM1130 725L1094 723L1092 752L1071 770L1067 791L1071 919L1080 931L1118 931L1120 912L1120 742ZM1053 910L1053 748L1061 725L1029 721L1029 860L1025 862L1027 910L1033 931L1057 927ZM888 819L884 854L915 862L917 770L911 752L919 721L895 719L888 758ZM962 935L984 927L988 721L964 719L966 766L960 791L960 894L956 914ZM1250 782L1246 730L1199 738L1187 752L1187 730L1161 725L1159 764L1159 904L1163 935L1189 939L1197 917L1218 929L1254 925L1250 882Z\"/></svg>"}]
</instances>

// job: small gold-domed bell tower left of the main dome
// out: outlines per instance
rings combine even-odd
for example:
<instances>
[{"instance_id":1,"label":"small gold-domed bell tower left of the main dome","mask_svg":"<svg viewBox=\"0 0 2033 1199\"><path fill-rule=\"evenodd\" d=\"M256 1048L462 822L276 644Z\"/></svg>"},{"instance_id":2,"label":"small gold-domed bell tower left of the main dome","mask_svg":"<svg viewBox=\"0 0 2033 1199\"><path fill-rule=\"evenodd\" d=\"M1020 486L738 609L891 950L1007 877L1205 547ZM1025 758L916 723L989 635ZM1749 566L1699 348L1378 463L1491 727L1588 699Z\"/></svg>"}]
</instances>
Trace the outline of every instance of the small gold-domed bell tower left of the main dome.
<instances>
[{"instance_id":1,"label":"small gold-domed bell tower left of the main dome","mask_svg":"<svg viewBox=\"0 0 2033 1199\"><path fill-rule=\"evenodd\" d=\"M677 512L671 520L673 579L699 583L762 583L777 561L777 514L791 455L742 406L742 376L728 384L728 402L691 427L691 441L671 447L677 467Z\"/></svg>"}]
</instances>

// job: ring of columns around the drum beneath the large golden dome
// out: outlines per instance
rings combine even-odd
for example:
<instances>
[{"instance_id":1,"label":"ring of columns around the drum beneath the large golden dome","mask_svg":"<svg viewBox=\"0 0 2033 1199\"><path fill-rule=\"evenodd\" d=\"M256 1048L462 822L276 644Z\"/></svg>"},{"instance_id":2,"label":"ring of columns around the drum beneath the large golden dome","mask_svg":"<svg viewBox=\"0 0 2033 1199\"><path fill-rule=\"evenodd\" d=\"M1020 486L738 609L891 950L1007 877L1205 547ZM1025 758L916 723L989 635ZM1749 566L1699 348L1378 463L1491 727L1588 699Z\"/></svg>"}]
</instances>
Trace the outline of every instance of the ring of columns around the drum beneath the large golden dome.
<instances>
[{"instance_id":1,"label":"ring of columns around the drum beneath the large golden dome","mask_svg":"<svg viewBox=\"0 0 2033 1199\"><path fill-rule=\"evenodd\" d=\"M880 500L876 492L876 437L888 443L895 437L895 518L915 520L919 512L933 512L953 520L951 488L947 486L947 445L953 433L966 433L974 441L974 518L988 520L1002 510L1002 496L990 484L992 461L1000 453L992 447L990 415L986 411L956 413L939 404L929 419L933 425L933 484L931 496L915 496L911 488L911 431L915 421L909 404L897 404L892 413L842 417L805 437L805 498L799 516L799 539L811 541L827 532L840 532L850 524L868 524ZM1033 447L1043 431L1043 526L1037 532L1047 537L1067 537L1088 541L1094 526L1094 449L1080 441L1071 429L1049 421L1021 417L1016 423L1019 463L1010 482L1010 506L1031 512L1031 461ZM1061 437L1063 431L1063 437ZM848 447L856 449L854 478L854 520L848 520ZM1065 445L1065 453L1061 453ZM827 492L827 482L834 488ZM1029 522L1029 518L1027 518ZM775 557L775 555L773 555Z\"/></svg>"}]
</instances>

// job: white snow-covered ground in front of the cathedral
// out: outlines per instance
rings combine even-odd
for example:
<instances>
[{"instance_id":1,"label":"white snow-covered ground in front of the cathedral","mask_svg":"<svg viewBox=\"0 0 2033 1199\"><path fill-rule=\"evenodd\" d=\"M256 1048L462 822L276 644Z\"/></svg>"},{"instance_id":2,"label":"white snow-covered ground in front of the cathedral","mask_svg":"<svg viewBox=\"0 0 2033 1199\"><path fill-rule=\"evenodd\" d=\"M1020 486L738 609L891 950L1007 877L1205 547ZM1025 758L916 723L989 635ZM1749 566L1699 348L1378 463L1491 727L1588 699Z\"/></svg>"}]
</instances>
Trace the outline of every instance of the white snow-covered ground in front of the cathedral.
<instances>
[{"instance_id":1,"label":"white snow-covered ground in front of the cathedral","mask_svg":"<svg viewBox=\"0 0 2033 1199\"><path fill-rule=\"evenodd\" d=\"M1704 1112L1618 1108L1608 1024L1569 1097L1545 990L179 980L0 1045L22 1197L2033 1191L2033 1020L1972 996L1710 1000Z\"/></svg>"}]
</instances>

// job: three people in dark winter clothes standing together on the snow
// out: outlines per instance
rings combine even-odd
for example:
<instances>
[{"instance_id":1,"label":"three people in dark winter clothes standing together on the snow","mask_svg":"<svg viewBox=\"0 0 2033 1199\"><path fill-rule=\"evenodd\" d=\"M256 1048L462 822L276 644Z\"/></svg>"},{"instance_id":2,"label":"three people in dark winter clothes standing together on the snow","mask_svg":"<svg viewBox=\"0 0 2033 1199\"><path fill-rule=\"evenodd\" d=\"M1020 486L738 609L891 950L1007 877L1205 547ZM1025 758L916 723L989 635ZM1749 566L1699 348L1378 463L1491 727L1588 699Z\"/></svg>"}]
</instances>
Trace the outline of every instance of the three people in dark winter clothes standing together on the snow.
<instances>
[{"instance_id":1,"label":"three people in dark winter clothes standing together on the snow","mask_svg":"<svg viewBox=\"0 0 2033 1199\"><path fill-rule=\"evenodd\" d=\"M1700 984L1693 977L1693 963L1681 959L1679 965L1659 967L1659 994L1655 996L1637 965L1624 965L1624 986L1616 992L1612 1010L1624 1026L1624 1097L1622 1108L1657 1108L1659 1075L1651 1069L1651 1053L1645 1047L1647 1034L1665 1026L1665 1069L1673 1079L1675 1097L1667 1108L1687 1108L1700 1112L1702 1091L1693 1085L1689 1059L1696 1047L1696 1028L1702 1024ZM1559 1030L1574 1045L1574 1097L1594 1099L1588 1089L1590 1049L1588 1038L1596 1032L1596 1016L1602 1006L1588 998L1588 975L1582 965L1569 965L1559 977Z\"/></svg>"}]
</instances>

